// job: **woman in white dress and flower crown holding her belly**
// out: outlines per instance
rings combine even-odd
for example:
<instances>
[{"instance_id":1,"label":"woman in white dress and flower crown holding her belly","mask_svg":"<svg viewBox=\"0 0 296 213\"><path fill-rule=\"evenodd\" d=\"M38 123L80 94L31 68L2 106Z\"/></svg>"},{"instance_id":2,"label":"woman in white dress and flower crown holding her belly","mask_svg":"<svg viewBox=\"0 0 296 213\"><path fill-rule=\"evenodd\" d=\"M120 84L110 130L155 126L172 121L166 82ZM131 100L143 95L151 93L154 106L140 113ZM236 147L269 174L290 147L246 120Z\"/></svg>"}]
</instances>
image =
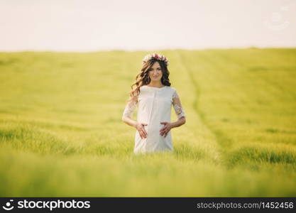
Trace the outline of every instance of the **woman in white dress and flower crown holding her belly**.
<instances>
[{"instance_id":1,"label":"woman in white dress and flower crown holding her belly","mask_svg":"<svg viewBox=\"0 0 296 213\"><path fill-rule=\"evenodd\" d=\"M134 153L173 151L170 129L182 126L186 120L177 90L170 87L168 59L153 53L142 62L141 72L131 85L122 121L136 128ZM137 121L134 121L131 116L137 105ZM178 118L175 122L170 122L171 107Z\"/></svg>"}]
</instances>

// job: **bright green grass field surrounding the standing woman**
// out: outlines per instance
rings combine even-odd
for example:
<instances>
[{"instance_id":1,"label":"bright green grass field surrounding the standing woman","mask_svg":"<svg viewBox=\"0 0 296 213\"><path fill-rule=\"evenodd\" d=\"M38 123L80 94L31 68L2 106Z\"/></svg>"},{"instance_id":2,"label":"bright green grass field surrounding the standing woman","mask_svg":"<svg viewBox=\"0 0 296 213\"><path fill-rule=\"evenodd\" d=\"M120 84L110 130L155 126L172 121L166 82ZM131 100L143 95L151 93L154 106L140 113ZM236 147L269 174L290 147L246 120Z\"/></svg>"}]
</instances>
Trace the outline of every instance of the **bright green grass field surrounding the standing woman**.
<instances>
[{"instance_id":1,"label":"bright green grass field surrounding the standing woman","mask_svg":"<svg viewBox=\"0 0 296 213\"><path fill-rule=\"evenodd\" d=\"M153 52L187 114L171 154L121 121L151 52L0 53L1 197L295 197L296 49Z\"/></svg>"}]
</instances>

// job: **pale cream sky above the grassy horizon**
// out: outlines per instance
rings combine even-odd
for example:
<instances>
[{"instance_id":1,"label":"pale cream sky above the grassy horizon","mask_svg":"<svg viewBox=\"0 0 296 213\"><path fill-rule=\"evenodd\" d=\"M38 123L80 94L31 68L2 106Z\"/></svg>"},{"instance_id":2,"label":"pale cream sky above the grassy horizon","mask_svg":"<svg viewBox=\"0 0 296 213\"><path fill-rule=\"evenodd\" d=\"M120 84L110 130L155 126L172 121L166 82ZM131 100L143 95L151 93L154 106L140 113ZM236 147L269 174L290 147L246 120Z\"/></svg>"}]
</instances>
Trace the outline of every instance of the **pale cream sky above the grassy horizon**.
<instances>
[{"instance_id":1,"label":"pale cream sky above the grassy horizon","mask_svg":"<svg viewBox=\"0 0 296 213\"><path fill-rule=\"evenodd\" d=\"M0 51L296 47L296 0L0 0Z\"/></svg>"}]
</instances>

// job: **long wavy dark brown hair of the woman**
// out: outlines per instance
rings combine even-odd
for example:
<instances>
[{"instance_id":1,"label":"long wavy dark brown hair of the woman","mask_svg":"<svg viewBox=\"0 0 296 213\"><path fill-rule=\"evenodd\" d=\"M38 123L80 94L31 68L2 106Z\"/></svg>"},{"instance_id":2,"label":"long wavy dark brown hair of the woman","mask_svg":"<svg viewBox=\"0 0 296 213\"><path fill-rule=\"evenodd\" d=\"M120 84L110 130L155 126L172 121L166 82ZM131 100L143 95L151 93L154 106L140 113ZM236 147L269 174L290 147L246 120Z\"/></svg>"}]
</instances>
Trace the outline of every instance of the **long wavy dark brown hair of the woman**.
<instances>
[{"instance_id":1,"label":"long wavy dark brown hair of the woman","mask_svg":"<svg viewBox=\"0 0 296 213\"><path fill-rule=\"evenodd\" d=\"M161 67L161 72L163 72L163 77L161 77L162 84L164 84L165 86L170 86L170 79L168 78L170 75L170 72L168 70L168 66L162 60L153 58L151 60L148 60L146 63L144 63L141 69L141 72L138 73L138 75L136 75L136 82L131 84L130 99L133 96L140 94L140 87L150 83L151 80L149 77L149 69L154 65L155 62L159 63ZM133 89L134 85L136 85L135 89Z\"/></svg>"}]
</instances>

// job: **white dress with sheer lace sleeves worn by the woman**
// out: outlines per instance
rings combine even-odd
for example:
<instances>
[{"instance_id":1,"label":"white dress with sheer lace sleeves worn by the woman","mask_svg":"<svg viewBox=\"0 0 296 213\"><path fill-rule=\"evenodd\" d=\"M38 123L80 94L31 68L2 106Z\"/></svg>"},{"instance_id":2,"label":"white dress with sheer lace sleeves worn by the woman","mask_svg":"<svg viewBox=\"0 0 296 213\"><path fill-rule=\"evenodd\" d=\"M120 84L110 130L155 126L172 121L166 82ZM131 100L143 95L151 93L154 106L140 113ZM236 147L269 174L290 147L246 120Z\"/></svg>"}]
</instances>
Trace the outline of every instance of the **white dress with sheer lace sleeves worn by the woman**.
<instances>
[{"instance_id":1,"label":"white dress with sheer lace sleeves worn by the woman","mask_svg":"<svg viewBox=\"0 0 296 213\"><path fill-rule=\"evenodd\" d=\"M164 124L160 124L160 122L170 122L171 107L174 107L178 119L185 116L177 90L170 86L159 88L144 85L140 87L140 94L131 98L126 104L123 117L131 118L137 105L137 121L148 124L144 126L147 137L141 138L140 133L136 130L133 153L173 151L171 130L167 136L161 136L160 129Z\"/></svg>"}]
</instances>

